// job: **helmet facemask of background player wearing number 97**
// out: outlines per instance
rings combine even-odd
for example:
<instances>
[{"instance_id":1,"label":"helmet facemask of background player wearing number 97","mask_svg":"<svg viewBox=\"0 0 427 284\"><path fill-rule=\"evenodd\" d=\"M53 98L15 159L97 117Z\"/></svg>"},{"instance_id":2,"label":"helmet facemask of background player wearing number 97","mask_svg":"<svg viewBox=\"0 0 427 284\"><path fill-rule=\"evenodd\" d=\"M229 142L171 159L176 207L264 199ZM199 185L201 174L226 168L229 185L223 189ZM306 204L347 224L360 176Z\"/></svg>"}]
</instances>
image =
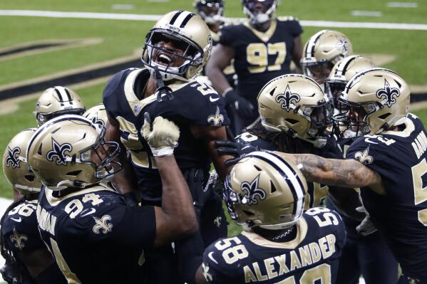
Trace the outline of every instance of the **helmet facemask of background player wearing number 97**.
<instances>
[{"instance_id":1,"label":"helmet facemask of background player wearing number 97","mask_svg":"<svg viewBox=\"0 0 427 284\"><path fill-rule=\"evenodd\" d=\"M258 8L260 4L262 9ZM276 6L276 0L243 0L243 12L249 17L249 21L254 26L272 19Z\"/></svg>"}]
</instances>

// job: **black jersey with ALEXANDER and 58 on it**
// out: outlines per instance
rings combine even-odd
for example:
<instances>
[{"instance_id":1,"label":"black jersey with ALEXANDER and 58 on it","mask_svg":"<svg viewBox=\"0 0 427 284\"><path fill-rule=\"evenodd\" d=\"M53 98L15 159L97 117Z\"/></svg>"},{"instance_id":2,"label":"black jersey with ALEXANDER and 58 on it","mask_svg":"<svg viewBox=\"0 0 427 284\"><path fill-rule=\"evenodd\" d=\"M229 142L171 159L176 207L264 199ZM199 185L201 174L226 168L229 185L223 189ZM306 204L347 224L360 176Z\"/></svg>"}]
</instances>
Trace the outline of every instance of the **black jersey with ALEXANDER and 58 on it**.
<instances>
[{"instance_id":1,"label":"black jersey with ALEXANDER and 58 on it","mask_svg":"<svg viewBox=\"0 0 427 284\"><path fill-rule=\"evenodd\" d=\"M345 235L336 212L309 209L292 241L244 231L212 243L203 253L203 275L209 283L335 283Z\"/></svg>"}]
</instances>

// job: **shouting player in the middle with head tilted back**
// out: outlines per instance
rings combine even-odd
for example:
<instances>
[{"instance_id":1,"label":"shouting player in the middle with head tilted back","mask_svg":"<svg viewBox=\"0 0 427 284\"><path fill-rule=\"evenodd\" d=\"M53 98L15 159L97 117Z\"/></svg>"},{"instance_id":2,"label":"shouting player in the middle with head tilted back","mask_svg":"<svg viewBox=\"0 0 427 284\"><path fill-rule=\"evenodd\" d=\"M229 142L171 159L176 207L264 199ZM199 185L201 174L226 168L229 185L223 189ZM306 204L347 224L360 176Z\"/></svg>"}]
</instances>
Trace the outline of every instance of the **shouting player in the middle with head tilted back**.
<instances>
[{"instance_id":1,"label":"shouting player in the middle with head tilted back","mask_svg":"<svg viewBox=\"0 0 427 284\"><path fill-rule=\"evenodd\" d=\"M153 273L155 277L168 278L153 282L176 281L172 271L178 268L185 282L194 283L205 246L227 236L220 196L204 189L211 160L222 179L227 173L224 157L215 150L215 140L227 139L225 125L229 120L216 90L194 80L209 58L211 48L212 36L205 21L188 11L170 12L147 34L142 55L145 68L120 71L108 81L103 92L109 122L107 139L121 142L130 150L130 167L116 175L115 185L125 193L138 183L145 204L160 205L162 187L158 165L140 134L143 114L161 115L180 127L175 156L195 200L200 230L195 236L163 248L166 256L156 261L178 258L178 264L162 268L153 261L155 265L150 270L159 270ZM160 248L155 253L160 253ZM197 264L185 261L187 255L195 254L200 257ZM163 273L165 270L170 273Z\"/></svg>"}]
</instances>

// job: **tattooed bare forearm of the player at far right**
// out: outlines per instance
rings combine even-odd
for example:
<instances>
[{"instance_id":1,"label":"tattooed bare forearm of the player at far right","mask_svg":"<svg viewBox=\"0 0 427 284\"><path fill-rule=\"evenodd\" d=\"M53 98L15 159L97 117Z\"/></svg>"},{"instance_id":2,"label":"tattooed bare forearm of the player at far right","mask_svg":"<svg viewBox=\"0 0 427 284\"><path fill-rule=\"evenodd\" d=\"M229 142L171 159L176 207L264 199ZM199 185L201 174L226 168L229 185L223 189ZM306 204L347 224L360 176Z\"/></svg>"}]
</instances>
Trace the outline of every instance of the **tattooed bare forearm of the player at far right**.
<instances>
[{"instance_id":1,"label":"tattooed bare forearm of the player at far right","mask_svg":"<svg viewBox=\"0 0 427 284\"><path fill-rule=\"evenodd\" d=\"M353 188L369 186L378 194L386 194L381 176L355 159L325 159L314 154L277 154L294 164L302 164L301 172L308 182Z\"/></svg>"}]
</instances>

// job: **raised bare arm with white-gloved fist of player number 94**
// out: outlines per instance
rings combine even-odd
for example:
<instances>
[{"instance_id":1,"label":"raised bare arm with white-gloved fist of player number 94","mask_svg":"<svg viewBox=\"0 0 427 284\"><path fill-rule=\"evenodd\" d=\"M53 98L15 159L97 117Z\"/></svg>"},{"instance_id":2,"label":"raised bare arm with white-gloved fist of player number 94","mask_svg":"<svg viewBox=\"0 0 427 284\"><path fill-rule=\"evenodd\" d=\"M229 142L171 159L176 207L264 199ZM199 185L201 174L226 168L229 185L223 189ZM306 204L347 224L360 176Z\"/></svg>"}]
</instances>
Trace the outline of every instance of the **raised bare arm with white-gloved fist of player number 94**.
<instances>
[{"instance_id":1,"label":"raised bare arm with white-gloved fist of player number 94","mask_svg":"<svg viewBox=\"0 0 427 284\"><path fill-rule=\"evenodd\" d=\"M158 165L162 180L162 207L155 207L155 246L164 245L197 231L197 220L187 182L173 156L180 130L173 122L156 117L153 125L145 115L143 135Z\"/></svg>"}]
</instances>

